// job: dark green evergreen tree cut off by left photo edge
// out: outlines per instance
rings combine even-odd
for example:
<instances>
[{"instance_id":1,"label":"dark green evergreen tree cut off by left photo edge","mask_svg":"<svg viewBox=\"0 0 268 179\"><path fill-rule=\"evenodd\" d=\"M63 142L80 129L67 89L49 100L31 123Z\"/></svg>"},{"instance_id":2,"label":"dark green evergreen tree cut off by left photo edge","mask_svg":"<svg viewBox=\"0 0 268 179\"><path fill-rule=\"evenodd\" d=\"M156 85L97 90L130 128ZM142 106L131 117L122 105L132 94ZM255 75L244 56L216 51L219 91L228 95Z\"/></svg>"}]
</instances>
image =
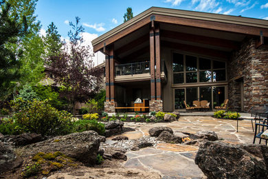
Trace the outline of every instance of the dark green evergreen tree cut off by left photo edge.
<instances>
[{"instance_id":1,"label":"dark green evergreen tree cut off by left photo edge","mask_svg":"<svg viewBox=\"0 0 268 179\"><path fill-rule=\"evenodd\" d=\"M20 77L19 58L23 53L20 48L12 50L10 46L18 44L25 36L27 20L25 16L19 17L18 14L11 13L10 3L0 1L0 6L0 96L5 98L12 88L12 81Z\"/></svg>"}]
</instances>

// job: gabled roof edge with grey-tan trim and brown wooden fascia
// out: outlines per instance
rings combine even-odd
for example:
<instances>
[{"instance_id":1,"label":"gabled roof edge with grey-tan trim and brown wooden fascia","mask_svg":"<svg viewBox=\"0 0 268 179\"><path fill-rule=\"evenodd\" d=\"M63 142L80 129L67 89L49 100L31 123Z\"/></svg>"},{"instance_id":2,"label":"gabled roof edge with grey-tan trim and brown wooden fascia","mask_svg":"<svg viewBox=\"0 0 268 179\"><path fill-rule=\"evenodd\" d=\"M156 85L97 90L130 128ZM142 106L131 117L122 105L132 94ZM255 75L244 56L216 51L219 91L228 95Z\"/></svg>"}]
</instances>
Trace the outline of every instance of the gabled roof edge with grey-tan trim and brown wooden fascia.
<instances>
[{"instance_id":1,"label":"gabled roof edge with grey-tan trim and brown wooden fascia","mask_svg":"<svg viewBox=\"0 0 268 179\"><path fill-rule=\"evenodd\" d=\"M104 45L109 45L123 36L134 32L138 28L150 23L152 20L160 23L175 23L178 25L188 25L256 36L260 35L260 32L263 32L263 36L268 36L267 20L152 7L138 14L133 19L118 25L118 27L113 28L109 32L102 34L102 36L93 39L92 45L94 52L103 48Z\"/></svg>"}]
</instances>

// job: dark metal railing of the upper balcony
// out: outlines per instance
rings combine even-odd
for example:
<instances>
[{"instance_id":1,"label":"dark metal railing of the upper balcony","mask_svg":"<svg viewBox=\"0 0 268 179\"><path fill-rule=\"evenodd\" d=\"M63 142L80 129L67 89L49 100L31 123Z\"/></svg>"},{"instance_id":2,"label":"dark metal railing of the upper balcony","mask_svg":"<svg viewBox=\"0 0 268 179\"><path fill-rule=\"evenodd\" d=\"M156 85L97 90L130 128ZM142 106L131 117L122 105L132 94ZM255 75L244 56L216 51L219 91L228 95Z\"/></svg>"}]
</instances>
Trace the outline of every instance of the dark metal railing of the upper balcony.
<instances>
[{"instance_id":1,"label":"dark metal railing of the upper balcony","mask_svg":"<svg viewBox=\"0 0 268 179\"><path fill-rule=\"evenodd\" d=\"M150 62L115 65L115 76L150 73Z\"/></svg>"}]
</instances>

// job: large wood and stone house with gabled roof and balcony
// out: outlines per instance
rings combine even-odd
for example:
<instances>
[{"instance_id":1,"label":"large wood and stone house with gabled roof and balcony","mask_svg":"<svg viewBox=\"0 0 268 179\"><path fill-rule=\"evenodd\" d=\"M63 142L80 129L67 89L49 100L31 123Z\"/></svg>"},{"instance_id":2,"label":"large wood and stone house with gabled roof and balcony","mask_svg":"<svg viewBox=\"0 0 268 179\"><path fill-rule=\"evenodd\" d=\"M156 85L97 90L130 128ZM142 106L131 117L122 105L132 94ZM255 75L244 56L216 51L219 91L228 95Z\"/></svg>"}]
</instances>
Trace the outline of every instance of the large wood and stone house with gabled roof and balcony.
<instances>
[{"instance_id":1,"label":"large wood and stone house with gabled roof and balcony","mask_svg":"<svg viewBox=\"0 0 268 179\"><path fill-rule=\"evenodd\" d=\"M150 111L229 99L246 111L268 103L268 21L149 8L92 41L106 55L105 110L148 100Z\"/></svg>"}]
</instances>

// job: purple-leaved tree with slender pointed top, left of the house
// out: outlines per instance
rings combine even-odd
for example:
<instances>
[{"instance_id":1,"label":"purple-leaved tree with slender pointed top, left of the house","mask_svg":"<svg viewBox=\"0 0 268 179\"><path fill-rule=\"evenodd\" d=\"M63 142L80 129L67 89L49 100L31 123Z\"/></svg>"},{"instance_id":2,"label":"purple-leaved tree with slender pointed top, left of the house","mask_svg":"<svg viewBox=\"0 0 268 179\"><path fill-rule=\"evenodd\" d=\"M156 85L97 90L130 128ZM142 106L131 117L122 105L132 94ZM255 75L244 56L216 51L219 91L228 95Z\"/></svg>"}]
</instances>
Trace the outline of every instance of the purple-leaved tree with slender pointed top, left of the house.
<instances>
[{"instance_id":1,"label":"purple-leaved tree with slender pointed top, left of the house","mask_svg":"<svg viewBox=\"0 0 268 179\"><path fill-rule=\"evenodd\" d=\"M60 53L50 56L50 64L54 80L60 85L60 90L69 101L73 114L76 114L75 105L78 101L85 102L100 89L100 74L102 70L93 67L93 52L89 45L84 45L82 32L84 28L70 22L71 30L68 32L69 41L64 44Z\"/></svg>"}]
</instances>

